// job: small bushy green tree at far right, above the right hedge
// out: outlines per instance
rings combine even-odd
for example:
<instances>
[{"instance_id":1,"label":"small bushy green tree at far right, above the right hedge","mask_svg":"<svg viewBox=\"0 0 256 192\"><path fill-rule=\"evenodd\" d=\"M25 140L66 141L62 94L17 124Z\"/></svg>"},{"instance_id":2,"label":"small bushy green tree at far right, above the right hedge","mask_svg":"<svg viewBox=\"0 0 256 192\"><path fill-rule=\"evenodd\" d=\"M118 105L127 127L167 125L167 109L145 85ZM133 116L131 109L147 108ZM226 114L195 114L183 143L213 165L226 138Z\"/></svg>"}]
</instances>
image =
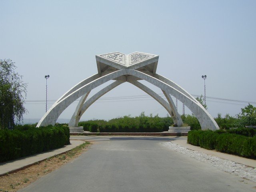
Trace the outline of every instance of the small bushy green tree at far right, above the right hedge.
<instances>
[{"instance_id":1,"label":"small bushy green tree at far right, above the right hedge","mask_svg":"<svg viewBox=\"0 0 256 192\"><path fill-rule=\"evenodd\" d=\"M241 113L237 114L237 118L237 126L256 125L256 107L249 103L248 106L241 108Z\"/></svg>"}]
</instances>

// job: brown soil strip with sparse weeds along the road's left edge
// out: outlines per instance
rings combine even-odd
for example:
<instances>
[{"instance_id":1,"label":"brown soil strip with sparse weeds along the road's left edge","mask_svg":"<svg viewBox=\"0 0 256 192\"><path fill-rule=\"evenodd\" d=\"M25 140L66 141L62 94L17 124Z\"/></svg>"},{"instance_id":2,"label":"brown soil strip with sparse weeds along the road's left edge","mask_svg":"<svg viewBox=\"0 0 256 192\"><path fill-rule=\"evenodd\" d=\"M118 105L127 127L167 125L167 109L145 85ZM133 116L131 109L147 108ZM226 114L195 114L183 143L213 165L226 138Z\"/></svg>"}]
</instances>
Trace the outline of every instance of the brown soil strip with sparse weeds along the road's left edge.
<instances>
[{"instance_id":1,"label":"brown soil strip with sparse weeds along the road's left edge","mask_svg":"<svg viewBox=\"0 0 256 192\"><path fill-rule=\"evenodd\" d=\"M0 192L16 192L42 176L60 168L62 165L74 160L90 147L86 142L76 148L60 155L48 158L38 164L32 165L24 170L6 174L0 177Z\"/></svg>"}]
</instances>

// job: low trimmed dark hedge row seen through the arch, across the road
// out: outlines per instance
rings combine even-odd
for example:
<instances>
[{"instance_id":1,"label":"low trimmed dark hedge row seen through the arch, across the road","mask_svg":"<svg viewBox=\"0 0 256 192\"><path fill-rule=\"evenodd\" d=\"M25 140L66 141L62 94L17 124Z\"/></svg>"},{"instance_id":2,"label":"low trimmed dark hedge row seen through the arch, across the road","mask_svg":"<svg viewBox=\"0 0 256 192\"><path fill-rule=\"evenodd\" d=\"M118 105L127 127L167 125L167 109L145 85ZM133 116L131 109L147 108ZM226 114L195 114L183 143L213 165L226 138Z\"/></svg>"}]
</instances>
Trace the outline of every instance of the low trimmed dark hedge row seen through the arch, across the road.
<instances>
[{"instance_id":1,"label":"low trimmed dark hedge row seen through the arch, across the road","mask_svg":"<svg viewBox=\"0 0 256 192\"><path fill-rule=\"evenodd\" d=\"M169 127L163 127L161 124L152 125L116 125L116 124L105 124L98 125L96 123L84 122L80 124L84 127L84 131L90 132L163 132L167 131Z\"/></svg>"}]
</instances>

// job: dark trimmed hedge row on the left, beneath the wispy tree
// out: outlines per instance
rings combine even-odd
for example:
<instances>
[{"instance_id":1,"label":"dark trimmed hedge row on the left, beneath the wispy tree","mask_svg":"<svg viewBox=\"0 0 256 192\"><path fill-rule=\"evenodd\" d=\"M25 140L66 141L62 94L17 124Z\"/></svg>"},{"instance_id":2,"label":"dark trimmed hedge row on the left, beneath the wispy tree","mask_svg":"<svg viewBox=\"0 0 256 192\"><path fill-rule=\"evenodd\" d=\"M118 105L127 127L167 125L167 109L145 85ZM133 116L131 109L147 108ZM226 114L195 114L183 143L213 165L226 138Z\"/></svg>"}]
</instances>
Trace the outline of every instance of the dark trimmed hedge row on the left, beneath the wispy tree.
<instances>
[{"instance_id":1,"label":"dark trimmed hedge row on the left, beneath the wispy tree","mask_svg":"<svg viewBox=\"0 0 256 192\"><path fill-rule=\"evenodd\" d=\"M69 144L67 126L19 126L14 130L0 130L0 162L60 148Z\"/></svg>"}]
</instances>

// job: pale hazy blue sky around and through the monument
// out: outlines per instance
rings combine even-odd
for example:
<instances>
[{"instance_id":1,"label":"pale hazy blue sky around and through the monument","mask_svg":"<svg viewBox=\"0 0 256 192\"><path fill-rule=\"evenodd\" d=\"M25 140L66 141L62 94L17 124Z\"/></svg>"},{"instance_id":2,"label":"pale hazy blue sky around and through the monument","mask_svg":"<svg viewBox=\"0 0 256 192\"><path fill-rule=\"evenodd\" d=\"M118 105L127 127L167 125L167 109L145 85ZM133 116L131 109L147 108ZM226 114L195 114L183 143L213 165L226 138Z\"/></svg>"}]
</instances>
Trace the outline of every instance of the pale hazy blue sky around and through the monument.
<instances>
[{"instance_id":1,"label":"pale hazy blue sky around and through the monument","mask_svg":"<svg viewBox=\"0 0 256 192\"><path fill-rule=\"evenodd\" d=\"M190 94L204 94L201 76L207 75L206 96L256 106L255 0L0 0L0 7L0 58L16 62L16 71L28 83L24 118L45 113L45 75L50 75L48 100L57 100L97 73L96 54L117 51L159 55L156 72ZM102 97L110 100L90 106L82 119L142 111L166 116L158 102L142 95L146 93L126 82ZM137 98L114 99L123 96ZM77 103L60 118L70 118ZM206 104L213 117L218 112L234 116L247 105L209 98ZM182 114L180 102L178 111ZM185 113L191 112L185 108Z\"/></svg>"}]
</instances>

